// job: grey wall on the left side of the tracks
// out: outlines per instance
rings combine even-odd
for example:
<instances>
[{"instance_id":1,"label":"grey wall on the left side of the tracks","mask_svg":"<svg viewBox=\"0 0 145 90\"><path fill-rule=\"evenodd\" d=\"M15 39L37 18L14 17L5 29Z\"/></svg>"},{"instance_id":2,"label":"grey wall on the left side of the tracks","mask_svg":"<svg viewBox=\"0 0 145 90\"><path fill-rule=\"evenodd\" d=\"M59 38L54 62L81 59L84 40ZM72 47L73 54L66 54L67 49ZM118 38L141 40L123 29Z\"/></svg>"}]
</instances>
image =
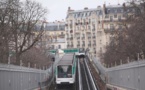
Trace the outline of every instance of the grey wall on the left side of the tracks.
<instances>
[{"instance_id":1,"label":"grey wall on the left side of the tracks","mask_svg":"<svg viewBox=\"0 0 145 90\"><path fill-rule=\"evenodd\" d=\"M0 90L33 90L47 78L44 70L0 64Z\"/></svg>"}]
</instances>

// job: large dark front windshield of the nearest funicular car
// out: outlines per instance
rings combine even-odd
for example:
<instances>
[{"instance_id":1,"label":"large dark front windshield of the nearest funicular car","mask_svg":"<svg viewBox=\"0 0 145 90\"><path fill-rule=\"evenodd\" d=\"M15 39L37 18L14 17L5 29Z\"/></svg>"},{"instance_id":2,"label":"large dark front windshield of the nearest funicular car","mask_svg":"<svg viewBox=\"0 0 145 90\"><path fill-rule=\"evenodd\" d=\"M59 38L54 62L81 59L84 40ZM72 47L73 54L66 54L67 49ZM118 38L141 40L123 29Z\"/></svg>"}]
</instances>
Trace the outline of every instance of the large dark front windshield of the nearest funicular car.
<instances>
[{"instance_id":1,"label":"large dark front windshield of the nearest funicular car","mask_svg":"<svg viewBox=\"0 0 145 90\"><path fill-rule=\"evenodd\" d=\"M59 65L57 67L58 78L72 78L72 66L71 65Z\"/></svg>"}]
</instances>

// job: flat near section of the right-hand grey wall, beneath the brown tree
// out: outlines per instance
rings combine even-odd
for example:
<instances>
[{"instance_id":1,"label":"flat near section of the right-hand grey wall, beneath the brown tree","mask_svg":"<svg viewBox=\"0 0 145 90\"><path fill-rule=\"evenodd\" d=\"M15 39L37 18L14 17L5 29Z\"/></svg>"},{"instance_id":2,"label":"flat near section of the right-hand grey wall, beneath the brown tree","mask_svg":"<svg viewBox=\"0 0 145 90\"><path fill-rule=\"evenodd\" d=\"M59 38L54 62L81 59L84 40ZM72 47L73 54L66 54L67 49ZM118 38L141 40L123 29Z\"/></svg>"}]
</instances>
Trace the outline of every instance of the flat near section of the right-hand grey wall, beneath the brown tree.
<instances>
[{"instance_id":1,"label":"flat near section of the right-hand grey wall, beneath the brown tree","mask_svg":"<svg viewBox=\"0 0 145 90\"><path fill-rule=\"evenodd\" d=\"M145 60L109 68L107 77L108 84L127 90L145 90Z\"/></svg>"}]
</instances>

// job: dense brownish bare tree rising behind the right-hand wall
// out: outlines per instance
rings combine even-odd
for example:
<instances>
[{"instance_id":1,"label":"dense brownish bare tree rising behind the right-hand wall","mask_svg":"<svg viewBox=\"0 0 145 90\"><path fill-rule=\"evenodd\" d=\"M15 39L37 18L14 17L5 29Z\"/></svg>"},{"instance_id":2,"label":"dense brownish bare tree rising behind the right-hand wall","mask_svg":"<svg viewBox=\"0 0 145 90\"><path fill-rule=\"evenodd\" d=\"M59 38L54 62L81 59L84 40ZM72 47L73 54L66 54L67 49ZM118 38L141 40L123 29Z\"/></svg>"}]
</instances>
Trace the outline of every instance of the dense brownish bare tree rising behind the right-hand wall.
<instances>
[{"instance_id":1,"label":"dense brownish bare tree rising behind the right-hand wall","mask_svg":"<svg viewBox=\"0 0 145 90\"><path fill-rule=\"evenodd\" d=\"M145 0L129 0L129 6L125 6L124 10L131 8L130 15L126 14L126 20L121 22L124 25L123 31L118 31L114 41L107 46L107 51L103 55L103 59L107 64L127 62L137 60L137 54L145 53Z\"/></svg>"}]
</instances>

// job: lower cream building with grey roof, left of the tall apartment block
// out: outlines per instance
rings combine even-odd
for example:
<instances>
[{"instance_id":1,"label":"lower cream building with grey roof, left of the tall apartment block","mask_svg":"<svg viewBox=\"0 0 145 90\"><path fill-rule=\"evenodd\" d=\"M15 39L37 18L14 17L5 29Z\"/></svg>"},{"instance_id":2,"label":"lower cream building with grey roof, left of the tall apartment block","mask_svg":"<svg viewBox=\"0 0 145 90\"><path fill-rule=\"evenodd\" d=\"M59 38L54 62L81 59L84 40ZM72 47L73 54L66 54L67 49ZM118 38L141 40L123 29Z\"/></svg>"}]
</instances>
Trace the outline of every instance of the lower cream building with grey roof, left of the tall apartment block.
<instances>
[{"instance_id":1,"label":"lower cream building with grey roof, left of the tall apartment block","mask_svg":"<svg viewBox=\"0 0 145 90\"><path fill-rule=\"evenodd\" d=\"M44 32L44 37L48 41L46 47L49 49L66 48L65 33L64 21L48 22Z\"/></svg>"}]
</instances>

